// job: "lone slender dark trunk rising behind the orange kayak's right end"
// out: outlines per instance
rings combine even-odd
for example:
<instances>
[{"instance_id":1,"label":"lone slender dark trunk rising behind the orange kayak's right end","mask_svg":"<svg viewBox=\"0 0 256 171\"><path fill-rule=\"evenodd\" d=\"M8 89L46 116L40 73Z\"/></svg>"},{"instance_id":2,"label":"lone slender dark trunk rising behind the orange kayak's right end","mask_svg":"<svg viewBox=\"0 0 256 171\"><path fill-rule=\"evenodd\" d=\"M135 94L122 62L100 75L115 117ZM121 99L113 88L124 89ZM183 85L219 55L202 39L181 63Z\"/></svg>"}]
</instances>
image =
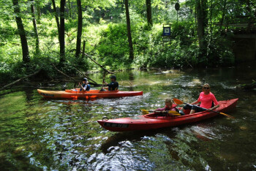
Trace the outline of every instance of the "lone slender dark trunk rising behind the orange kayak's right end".
<instances>
[{"instance_id":1,"label":"lone slender dark trunk rising behind the orange kayak's right end","mask_svg":"<svg viewBox=\"0 0 256 171\"><path fill-rule=\"evenodd\" d=\"M125 13L127 16L127 36L128 36L128 42L129 42L129 59L133 60L133 47L132 47L132 34L131 34L131 24L129 21L129 7L128 7L128 0L124 0L125 5Z\"/></svg>"}]
</instances>

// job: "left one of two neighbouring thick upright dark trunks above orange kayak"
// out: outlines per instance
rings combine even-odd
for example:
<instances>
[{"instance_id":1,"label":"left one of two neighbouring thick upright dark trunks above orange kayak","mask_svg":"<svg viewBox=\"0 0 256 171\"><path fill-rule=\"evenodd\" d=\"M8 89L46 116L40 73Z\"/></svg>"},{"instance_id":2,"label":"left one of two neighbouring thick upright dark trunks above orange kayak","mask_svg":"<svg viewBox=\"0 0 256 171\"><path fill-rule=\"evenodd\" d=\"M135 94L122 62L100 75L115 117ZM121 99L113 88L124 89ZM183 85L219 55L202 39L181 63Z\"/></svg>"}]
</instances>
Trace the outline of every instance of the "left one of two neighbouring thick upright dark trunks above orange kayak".
<instances>
[{"instance_id":1,"label":"left one of two neighbouring thick upright dark trunks above orange kayak","mask_svg":"<svg viewBox=\"0 0 256 171\"><path fill-rule=\"evenodd\" d=\"M61 0L60 25L59 25L59 49L60 49L59 64L63 64L65 61L65 4L66 4L66 0Z\"/></svg>"}]
</instances>

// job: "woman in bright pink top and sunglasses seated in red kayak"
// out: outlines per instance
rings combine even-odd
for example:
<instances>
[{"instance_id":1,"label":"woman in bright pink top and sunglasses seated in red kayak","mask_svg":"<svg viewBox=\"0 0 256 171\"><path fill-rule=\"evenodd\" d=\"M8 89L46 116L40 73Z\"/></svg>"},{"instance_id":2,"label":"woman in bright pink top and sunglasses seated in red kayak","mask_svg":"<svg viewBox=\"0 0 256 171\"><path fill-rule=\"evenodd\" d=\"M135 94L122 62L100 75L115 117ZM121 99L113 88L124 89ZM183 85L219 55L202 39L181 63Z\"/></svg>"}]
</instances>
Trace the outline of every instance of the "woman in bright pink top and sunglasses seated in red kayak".
<instances>
[{"instance_id":1,"label":"woman in bright pink top and sunglasses seated in red kayak","mask_svg":"<svg viewBox=\"0 0 256 171\"><path fill-rule=\"evenodd\" d=\"M181 110L184 112L184 110L190 109L189 114L192 114L202 112L206 109L215 110L217 107L219 107L217 99L215 98L214 94L211 93L211 88L209 84L204 84L202 91L203 92L200 93L197 101L192 102L191 104L186 104ZM197 103L200 103L200 106L194 105Z\"/></svg>"}]
</instances>

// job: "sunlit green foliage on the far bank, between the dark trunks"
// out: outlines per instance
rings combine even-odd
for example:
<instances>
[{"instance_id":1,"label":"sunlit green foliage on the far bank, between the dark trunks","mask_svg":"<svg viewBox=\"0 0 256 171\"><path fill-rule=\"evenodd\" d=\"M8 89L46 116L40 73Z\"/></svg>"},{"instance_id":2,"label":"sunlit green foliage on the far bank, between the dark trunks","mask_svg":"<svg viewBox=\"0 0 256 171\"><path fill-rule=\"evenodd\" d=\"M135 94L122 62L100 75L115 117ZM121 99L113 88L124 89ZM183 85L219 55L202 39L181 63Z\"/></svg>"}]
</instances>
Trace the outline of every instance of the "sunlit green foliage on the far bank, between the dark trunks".
<instances>
[{"instance_id":1,"label":"sunlit green foliage on the far bank, between the dark trunks","mask_svg":"<svg viewBox=\"0 0 256 171\"><path fill-rule=\"evenodd\" d=\"M191 67L203 63L206 66L226 66L234 63L233 42L224 32L225 23L248 22L255 20L253 1L208 1L208 26L206 27L207 54L198 61L200 53L195 22L195 0L181 2L177 12L171 0L151 0L153 27L146 24L146 1L129 1L129 15L132 29L132 42L135 54L134 61L129 61L127 25L122 0L82 1L83 6L83 40L86 41L86 53L108 69L127 69L130 67ZM226 3L226 4L225 4ZM58 75L52 64L59 63L59 38L56 18L51 1L35 1L41 7L39 48L41 54L35 54L34 27L31 22L31 1L19 1L20 17L26 30L31 63L22 62L22 48L15 23L12 1L0 0L0 82L14 80L28 75L42 67L46 77ZM76 1L70 0L72 16L67 13L65 20L66 58L61 71L75 75L77 69L97 69L98 66L88 58L75 58L77 39ZM56 1L57 8L59 1ZM59 10L59 9L58 9ZM37 8L36 12L37 14ZM38 18L37 16L36 18ZM224 17L224 18L222 18ZM222 23L219 26L216 23ZM162 44L162 24L172 23L170 42ZM75 69L77 68L77 69Z\"/></svg>"}]
</instances>

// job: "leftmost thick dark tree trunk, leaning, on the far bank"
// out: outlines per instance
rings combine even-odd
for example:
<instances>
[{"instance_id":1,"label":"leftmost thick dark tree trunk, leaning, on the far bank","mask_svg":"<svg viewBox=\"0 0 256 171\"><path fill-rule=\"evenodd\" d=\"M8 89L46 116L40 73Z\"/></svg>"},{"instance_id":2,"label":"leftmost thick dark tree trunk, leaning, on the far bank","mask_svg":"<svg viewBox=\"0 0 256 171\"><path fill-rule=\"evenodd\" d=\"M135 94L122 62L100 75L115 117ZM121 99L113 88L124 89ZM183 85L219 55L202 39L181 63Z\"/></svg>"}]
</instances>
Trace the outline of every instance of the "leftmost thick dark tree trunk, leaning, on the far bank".
<instances>
[{"instance_id":1,"label":"leftmost thick dark tree trunk, leaning, on the far bank","mask_svg":"<svg viewBox=\"0 0 256 171\"><path fill-rule=\"evenodd\" d=\"M12 4L14 6L15 20L16 20L17 27L18 27L18 33L20 34L20 42L21 42L21 47L22 47L23 61L29 62L30 61L29 46L28 46L28 42L26 39L26 32L23 27L22 20L20 18L20 6L18 4L18 0L12 0Z\"/></svg>"}]
</instances>

